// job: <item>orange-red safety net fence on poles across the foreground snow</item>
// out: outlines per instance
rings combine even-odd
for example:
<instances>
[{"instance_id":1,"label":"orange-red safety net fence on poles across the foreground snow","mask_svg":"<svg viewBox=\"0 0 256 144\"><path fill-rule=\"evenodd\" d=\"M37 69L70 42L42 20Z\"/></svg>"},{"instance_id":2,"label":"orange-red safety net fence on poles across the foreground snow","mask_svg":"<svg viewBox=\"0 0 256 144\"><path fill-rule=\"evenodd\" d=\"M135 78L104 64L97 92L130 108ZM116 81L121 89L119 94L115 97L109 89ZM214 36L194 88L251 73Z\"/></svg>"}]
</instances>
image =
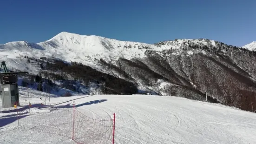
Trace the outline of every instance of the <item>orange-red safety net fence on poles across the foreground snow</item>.
<instances>
[{"instance_id":1,"label":"orange-red safety net fence on poles across the foreground snow","mask_svg":"<svg viewBox=\"0 0 256 144\"><path fill-rule=\"evenodd\" d=\"M90 118L80 112L74 102L60 105L24 103L2 108L0 112L2 132L37 131L68 137L77 144L114 144L115 113L113 118Z\"/></svg>"}]
</instances>

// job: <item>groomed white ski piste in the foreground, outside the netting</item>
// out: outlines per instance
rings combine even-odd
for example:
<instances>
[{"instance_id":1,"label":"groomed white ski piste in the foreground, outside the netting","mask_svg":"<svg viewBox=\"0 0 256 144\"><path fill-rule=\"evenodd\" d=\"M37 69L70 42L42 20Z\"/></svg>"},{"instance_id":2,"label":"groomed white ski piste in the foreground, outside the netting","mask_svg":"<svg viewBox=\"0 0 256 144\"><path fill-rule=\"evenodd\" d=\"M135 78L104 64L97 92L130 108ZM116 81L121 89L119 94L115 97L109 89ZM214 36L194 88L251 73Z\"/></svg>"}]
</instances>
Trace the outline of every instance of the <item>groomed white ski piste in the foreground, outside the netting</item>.
<instances>
[{"instance_id":1,"label":"groomed white ski piste in the foreground, outside the netting","mask_svg":"<svg viewBox=\"0 0 256 144\"><path fill-rule=\"evenodd\" d=\"M25 102L25 99L20 98L20 101ZM38 104L44 100L30 99ZM61 120L56 119L54 124L47 125L47 119L32 119L44 125L44 130L57 125L57 132L63 132L64 136L72 135L61 128L71 127L65 125L65 121L72 118L72 115L66 115L65 106L72 106L73 101L76 109L90 118L112 119L113 113L116 113L115 144L256 144L255 113L178 97L94 95L50 98L52 105L63 105L59 107ZM54 112L53 108L38 107L31 111ZM26 131L13 130L17 120L7 121L10 117L15 117L15 111L0 112L0 144L75 144L70 138L54 135L50 131L35 131L33 124ZM87 124L82 117L80 119ZM87 126L90 129L89 123ZM91 137L94 137L93 134Z\"/></svg>"}]
</instances>

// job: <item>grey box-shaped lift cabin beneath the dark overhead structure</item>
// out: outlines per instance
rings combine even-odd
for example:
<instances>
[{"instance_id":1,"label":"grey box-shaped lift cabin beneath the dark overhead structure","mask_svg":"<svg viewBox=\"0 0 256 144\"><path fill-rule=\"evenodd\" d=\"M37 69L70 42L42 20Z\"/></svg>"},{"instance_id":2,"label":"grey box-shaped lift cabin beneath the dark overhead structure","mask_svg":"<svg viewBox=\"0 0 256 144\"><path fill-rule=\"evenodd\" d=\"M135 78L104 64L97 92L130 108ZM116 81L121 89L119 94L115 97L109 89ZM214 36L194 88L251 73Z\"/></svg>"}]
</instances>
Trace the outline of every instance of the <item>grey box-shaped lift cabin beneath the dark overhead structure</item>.
<instances>
[{"instance_id":1,"label":"grey box-shaped lift cabin beneath the dark overhead structure","mask_svg":"<svg viewBox=\"0 0 256 144\"><path fill-rule=\"evenodd\" d=\"M14 107L19 105L19 89L17 84L1 85L2 107Z\"/></svg>"}]
</instances>

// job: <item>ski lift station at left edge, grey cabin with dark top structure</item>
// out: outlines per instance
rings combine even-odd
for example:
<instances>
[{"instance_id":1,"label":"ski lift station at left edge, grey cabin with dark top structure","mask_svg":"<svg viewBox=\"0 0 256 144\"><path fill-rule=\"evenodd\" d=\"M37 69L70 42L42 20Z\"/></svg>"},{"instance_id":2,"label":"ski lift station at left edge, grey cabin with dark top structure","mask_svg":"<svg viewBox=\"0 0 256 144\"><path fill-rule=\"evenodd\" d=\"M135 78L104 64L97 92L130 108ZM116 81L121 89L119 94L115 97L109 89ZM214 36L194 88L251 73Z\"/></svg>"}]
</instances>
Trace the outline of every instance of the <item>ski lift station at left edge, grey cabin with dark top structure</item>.
<instances>
[{"instance_id":1,"label":"ski lift station at left edge, grey cabin with dark top structure","mask_svg":"<svg viewBox=\"0 0 256 144\"><path fill-rule=\"evenodd\" d=\"M3 68L3 72L2 71ZM14 107L20 105L18 76L26 75L28 72L8 72L6 62L1 62L0 67L0 95L2 107Z\"/></svg>"}]
</instances>

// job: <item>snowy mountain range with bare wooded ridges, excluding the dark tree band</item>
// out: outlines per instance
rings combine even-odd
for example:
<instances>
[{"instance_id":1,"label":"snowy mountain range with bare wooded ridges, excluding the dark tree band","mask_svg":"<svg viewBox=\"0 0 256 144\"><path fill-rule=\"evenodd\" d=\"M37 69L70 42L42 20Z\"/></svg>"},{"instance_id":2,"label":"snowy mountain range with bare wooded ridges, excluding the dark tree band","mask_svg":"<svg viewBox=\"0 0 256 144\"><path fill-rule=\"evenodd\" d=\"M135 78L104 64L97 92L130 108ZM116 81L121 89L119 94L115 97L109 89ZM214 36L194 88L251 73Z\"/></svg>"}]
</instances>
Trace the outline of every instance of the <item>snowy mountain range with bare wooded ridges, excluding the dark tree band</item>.
<instances>
[{"instance_id":1,"label":"snowy mountain range with bare wooded ridges, excluding the dark tree band","mask_svg":"<svg viewBox=\"0 0 256 144\"><path fill-rule=\"evenodd\" d=\"M41 71L39 63L28 63L24 55L82 63L160 95L202 101L207 96L210 102L256 110L256 51L250 47L209 39L175 39L151 45L66 32L38 44L19 41L0 45L0 60L7 61L13 70Z\"/></svg>"}]
</instances>

